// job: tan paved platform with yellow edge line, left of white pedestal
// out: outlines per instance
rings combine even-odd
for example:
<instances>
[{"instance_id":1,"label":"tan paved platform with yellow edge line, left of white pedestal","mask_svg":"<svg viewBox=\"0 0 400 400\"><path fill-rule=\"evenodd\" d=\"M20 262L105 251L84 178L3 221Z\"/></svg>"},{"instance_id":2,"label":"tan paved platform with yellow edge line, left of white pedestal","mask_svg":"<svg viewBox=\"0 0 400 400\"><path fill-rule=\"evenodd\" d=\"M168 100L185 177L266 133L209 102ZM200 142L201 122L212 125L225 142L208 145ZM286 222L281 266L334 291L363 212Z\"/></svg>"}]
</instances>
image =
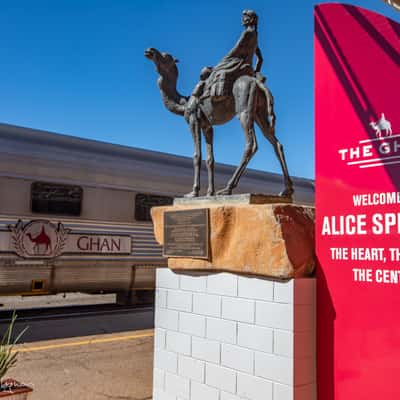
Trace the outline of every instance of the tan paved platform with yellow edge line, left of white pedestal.
<instances>
[{"instance_id":1,"label":"tan paved platform with yellow edge line, left of white pedestal","mask_svg":"<svg viewBox=\"0 0 400 400\"><path fill-rule=\"evenodd\" d=\"M18 346L9 376L34 388L31 400L151 399L153 331Z\"/></svg>"}]
</instances>

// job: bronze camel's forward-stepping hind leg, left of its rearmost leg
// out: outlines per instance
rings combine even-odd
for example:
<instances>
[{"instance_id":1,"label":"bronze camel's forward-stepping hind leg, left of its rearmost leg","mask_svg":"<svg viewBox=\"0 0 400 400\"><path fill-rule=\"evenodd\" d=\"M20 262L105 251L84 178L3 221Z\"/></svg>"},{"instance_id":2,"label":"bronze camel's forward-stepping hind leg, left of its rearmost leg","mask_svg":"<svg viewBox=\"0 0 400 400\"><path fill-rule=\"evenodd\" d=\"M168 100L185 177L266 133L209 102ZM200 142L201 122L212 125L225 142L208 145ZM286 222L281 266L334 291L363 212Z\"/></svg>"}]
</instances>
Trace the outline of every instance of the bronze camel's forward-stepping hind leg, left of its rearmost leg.
<instances>
[{"instance_id":1,"label":"bronze camel's forward-stepping hind leg, left of its rearmost leg","mask_svg":"<svg viewBox=\"0 0 400 400\"><path fill-rule=\"evenodd\" d=\"M217 192L219 195L232 194L232 190L238 185L240 177L243 175L247 164L257 151L257 140L254 132L254 117L252 113L249 111L241 112L239 114L239 121L245 133L246 147L239 166L236 168L236 171L229 180L227 186Z\"/></svg>"}]
</instances>

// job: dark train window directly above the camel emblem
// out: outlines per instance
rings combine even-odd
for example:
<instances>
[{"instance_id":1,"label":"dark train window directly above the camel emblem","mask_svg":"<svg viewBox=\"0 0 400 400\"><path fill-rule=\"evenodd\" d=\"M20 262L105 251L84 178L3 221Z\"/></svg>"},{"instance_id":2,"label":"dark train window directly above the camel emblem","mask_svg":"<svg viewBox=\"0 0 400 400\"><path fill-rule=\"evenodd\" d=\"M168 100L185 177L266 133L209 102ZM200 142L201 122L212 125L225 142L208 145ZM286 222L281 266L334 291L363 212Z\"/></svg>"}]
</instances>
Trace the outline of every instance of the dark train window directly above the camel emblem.
<instances>
[{"instance_id":1,"label":"dark train window directly above the camel emblem","mask_svg":"<svg viewBox=\"0 0 400 400\"><path fill-rule=\"evenodd\" d=\"M82 194L80 186L34 182L31 186L32 212L79 216Z\"/></svg>"}]
</instances>

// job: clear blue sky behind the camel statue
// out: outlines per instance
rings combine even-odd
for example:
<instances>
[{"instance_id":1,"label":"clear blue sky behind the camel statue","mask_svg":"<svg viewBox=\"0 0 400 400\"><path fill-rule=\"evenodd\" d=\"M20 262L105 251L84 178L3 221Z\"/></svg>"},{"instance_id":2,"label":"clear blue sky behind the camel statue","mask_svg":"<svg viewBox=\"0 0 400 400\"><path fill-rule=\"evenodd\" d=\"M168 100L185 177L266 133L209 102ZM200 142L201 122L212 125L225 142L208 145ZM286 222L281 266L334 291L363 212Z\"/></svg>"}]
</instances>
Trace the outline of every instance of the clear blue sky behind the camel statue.
<instances>
[{"instance_id":1,"label":"clear blue sky behind the camel statue","mask_svg":"<svg viewBox=\"0 0 400 400\"><path fill-rule=\"evenodd\" d=\"M275 96L277 136L292 175L314 176L312 0L3 0L0 122L191 156L183 118L162 105L147 47L180 60L189 94L205 65L239 37L242 9L259 14L263 72ZM380 0L350 1L395 20ZM280 172L257 134L251 168ZM236 119L215 129L215 157L237 164L244 138Z\"/></svg>"}]
</instances>

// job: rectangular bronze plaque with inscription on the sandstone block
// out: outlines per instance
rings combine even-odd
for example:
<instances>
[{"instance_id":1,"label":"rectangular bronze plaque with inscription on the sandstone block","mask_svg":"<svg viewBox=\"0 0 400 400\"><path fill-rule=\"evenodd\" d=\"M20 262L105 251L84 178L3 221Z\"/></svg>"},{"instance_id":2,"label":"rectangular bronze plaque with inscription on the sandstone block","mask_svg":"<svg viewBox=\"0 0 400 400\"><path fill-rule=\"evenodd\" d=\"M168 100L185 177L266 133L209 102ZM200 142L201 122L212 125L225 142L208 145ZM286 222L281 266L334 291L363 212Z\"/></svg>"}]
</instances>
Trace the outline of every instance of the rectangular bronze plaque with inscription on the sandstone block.
<instances>
[{"instance_id":1,"label":"rectangular bronze plaque with inscription on the sandstone block","mask_svg":"<svg viewBox=\"0 0 400 400\"><path fill-rule=\"evenodd\" d=\"M208 259L208 208L164 213L164 256Z\"/></svg>"}]
</instances>

